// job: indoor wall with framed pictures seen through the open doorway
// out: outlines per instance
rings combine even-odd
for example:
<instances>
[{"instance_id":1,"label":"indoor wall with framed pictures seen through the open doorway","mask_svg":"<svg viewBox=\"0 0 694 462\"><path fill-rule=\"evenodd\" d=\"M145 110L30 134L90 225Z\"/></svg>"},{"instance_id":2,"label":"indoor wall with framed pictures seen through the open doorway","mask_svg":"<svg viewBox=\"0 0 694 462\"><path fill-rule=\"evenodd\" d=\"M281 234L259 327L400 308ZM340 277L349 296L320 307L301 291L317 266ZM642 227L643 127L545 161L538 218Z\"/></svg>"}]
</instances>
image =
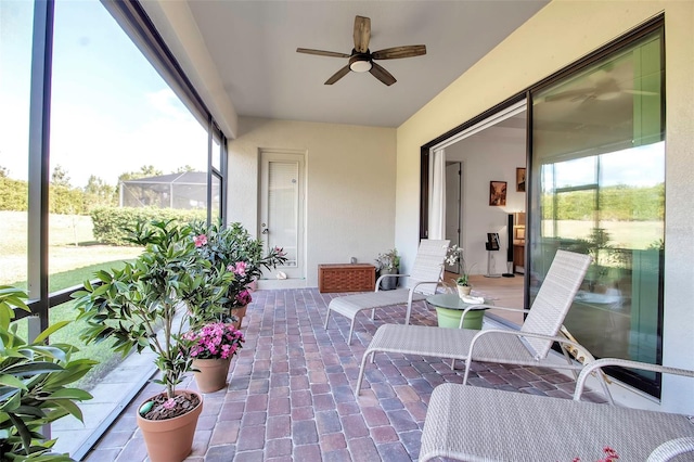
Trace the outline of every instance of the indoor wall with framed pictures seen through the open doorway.
<instances>
[{"instance_id":1,"label":"indoor wall with framed pictures seen through the open doorway","mask_svg":"<svg viewBox=\"0 0 694 462\"><path fill-rule=\"evenodd\" d=\"M506 272L509 214L525 210L525 193L516 192L515 187L516 167L525 166L525 132L519 133L517 142L493 136L466 138L446 147L446 159L463 163L462 247L468 271L487 273L487 233L497 232L501 248L492 252L489 272ZM505 206L489 205L490 181L506 182Z\"/></svg>"}]
</instances>

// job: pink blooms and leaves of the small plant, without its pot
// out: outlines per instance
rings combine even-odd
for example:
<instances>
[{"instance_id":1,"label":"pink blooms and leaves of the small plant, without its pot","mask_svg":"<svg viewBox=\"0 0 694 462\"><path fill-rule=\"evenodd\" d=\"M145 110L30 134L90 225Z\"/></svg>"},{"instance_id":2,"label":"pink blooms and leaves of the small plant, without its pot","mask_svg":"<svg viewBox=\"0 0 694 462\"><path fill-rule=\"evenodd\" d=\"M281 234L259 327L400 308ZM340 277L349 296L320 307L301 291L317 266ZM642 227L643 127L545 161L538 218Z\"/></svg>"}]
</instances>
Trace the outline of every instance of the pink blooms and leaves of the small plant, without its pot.
<instances>
[{"instance_id":1,"label":"pink blooms and leaves of the small plant, without its pot","mask_svg":"<svg viewBox=\"0 0 694 462\"><path fill-rule=\"evenodd\" d=\"M213 322L183 337L191 343L190 355L197 359L232 358L243 348L243 333L232 324Z\"/></svg>"}]
</instances>

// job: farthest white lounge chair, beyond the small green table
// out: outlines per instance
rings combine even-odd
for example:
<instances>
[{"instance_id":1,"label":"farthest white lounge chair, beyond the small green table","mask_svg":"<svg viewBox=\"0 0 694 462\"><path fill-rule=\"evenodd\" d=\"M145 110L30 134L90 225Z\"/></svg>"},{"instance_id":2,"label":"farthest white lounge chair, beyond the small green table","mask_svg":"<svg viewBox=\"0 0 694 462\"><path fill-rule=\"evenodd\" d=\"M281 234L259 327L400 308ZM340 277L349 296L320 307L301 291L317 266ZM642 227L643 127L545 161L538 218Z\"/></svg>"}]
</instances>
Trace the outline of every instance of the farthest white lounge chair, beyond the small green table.
<instances>
[{"instance_id":1,"label":"farthest white lounge chair, beyond the small green table","mask_svg":"<svg viewBox=\"0 0 694 462\"><path fill-rule=\"evenodd\" d=\"M408 307L404 323L409 324L412 303L424 300L427 296L436 293L436 288L444 274L444 260L446 259L449 242L450 241L446 240L422 240L410 274L384 274L376 281L375 292L333 298L327 305L325 329L327 329L327 322L330 321L332 311L348 318L351 323L349 325L347 343L351 344L351 335L355 331L355 318L360 311L370 309L371 320L373 321L375 308L404 304L407 304ZM380 291L381 281L385 278L407 278L406 287L395 288L393 291Z\"/></svg>"}]
</instances>

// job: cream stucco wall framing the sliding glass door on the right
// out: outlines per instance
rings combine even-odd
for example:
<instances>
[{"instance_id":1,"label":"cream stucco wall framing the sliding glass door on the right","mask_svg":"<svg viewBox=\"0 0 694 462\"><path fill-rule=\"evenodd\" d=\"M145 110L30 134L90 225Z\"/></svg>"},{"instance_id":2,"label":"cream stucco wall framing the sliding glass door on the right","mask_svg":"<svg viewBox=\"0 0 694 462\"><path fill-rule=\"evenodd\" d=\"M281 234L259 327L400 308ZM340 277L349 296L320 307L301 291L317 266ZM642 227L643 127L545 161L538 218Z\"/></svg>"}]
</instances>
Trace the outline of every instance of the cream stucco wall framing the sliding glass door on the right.
<instances>
[{"instance_id":1,"label":"cream stucco wall framing the sliding glass door on the right","mask_svg":"<svg viewBox=\"0 0 694 462\"><path fill-rule=\"evenodd\" d=\"M664 363L694 369L694 2L555 0L397 132L395 242L419 241L420 146L665 11L666 270ZM691 382L666 377L661 408L694 413Z\"/></svg>"}]
</instances>

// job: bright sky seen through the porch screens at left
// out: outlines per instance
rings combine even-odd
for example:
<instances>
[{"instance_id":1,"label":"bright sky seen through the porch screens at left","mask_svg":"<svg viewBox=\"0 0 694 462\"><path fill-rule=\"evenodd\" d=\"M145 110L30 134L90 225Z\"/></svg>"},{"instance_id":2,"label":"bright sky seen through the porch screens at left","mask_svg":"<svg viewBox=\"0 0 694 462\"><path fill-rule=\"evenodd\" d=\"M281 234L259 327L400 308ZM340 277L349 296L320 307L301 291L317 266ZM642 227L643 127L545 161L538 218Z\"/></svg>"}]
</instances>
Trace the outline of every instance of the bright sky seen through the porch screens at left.
<instances>
[{"instance_id":1,"label":"bright sky seen through the porch screens at left","mask_svg":"<svg viewBox=\"0 0 694 462\"><path fill-rule=\"evenodd\" d=\"M0 1L0 166L27 178L31 2ZM51 100L51 170L74 187L91 175L154 165L207 169L207 133L95 0L57 0Z\"/></svg>"}]
</instances>

